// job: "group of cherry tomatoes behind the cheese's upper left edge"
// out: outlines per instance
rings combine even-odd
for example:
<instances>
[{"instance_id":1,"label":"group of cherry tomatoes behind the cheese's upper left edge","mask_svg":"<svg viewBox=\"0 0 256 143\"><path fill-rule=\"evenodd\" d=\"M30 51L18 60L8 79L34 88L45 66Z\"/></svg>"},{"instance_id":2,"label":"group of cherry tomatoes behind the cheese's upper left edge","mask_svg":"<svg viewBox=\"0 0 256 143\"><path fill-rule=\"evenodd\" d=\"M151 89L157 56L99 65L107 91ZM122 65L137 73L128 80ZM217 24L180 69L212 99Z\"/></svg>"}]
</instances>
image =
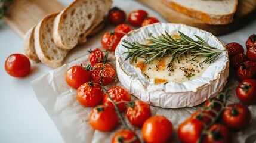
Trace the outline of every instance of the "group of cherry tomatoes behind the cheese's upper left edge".
<instances>
[{"instance_id":1,"label":"group of cherry tomatoes behind the cheese's upper left edge","mask_svg":"<svg viewBox=\"0 0 256 143\"><path fill-rule=\"evenodd\" d=\"M114 32L106 32L101 37L101 44L105 49L109 49L109 51L115 51L121 38L133 30L131 26L143 27L159 22L155 17L148 17L145 10L135 10L129 14L128 23L131 24L131 26L129 26L125 24L125 11L117 7L113 7L109 10L108 20L111 24L117 25Z\"/></svg>"}]
</instances>

